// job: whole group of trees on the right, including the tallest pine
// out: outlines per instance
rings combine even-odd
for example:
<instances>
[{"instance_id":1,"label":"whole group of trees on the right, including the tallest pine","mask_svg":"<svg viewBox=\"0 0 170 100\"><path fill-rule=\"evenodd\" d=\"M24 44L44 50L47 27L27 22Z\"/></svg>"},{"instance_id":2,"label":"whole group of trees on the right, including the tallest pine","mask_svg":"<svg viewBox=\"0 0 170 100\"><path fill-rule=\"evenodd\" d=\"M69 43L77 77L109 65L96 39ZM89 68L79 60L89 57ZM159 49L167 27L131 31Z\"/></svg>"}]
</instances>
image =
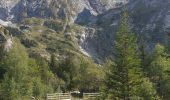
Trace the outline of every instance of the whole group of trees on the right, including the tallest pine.
<instances>
[{"instance_id":1,"label":"whole group of trees on the right, including the tallest pine","mask_svg":"<svg viewBox=\"0 0 170 100\"><path fill-rule=\"evenodd\" d=\"M115 58L105 64L104 99L169 100L170 58L166 48L157 44L153 52L147 52L144 41L138 43L128 26L125 12L114 42Z\"/></svg>"}]
</instances>

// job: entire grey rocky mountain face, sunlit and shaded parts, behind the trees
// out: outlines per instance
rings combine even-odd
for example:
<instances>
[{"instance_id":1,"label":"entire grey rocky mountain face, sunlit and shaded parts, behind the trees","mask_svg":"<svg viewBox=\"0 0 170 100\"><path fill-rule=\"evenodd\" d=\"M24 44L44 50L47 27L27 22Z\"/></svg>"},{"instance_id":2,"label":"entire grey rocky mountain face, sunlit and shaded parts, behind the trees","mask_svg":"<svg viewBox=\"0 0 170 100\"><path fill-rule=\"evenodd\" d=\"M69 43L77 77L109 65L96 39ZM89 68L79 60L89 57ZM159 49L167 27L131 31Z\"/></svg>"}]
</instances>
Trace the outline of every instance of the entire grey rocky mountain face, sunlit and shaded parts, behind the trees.
<instances>
[{"instance_id":1,"label":"entire grey rocky mountain face, sunlit and shaded parts, behind the trees","mask_svg":"<svg viewBox=\"0 0 170 100\"><path fill-rule=\"evenodd\" d=\"M19 23L25 18L66 19L65 28L83 28L81 49L95 59L113 54L114 33L124 8L129 10L132 30L144 37L148 48L167 44L170 32L170 0L1 0L0 19ZM64 28L64 29L65 29Z\"/></svg>"}]
</instances>

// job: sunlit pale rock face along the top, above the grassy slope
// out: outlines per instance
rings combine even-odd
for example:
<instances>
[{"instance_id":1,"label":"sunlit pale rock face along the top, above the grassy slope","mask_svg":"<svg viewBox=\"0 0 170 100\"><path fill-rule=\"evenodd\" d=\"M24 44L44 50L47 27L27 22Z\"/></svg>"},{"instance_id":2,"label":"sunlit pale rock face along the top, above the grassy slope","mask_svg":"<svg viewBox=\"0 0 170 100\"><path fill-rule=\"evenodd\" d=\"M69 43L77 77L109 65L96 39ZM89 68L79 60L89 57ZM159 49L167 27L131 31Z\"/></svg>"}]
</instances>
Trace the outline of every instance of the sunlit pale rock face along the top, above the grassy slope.
<instances>
[{"instance_id":1,"label":"sunlit pale rock face along the top, above the grassy slope","mask_svg":"<svg viewBox=\"0 0 170 100\"><path fill-rule=\"evenodd\" d=\"M0 19L18 21L25 17L63 18L67 14L74 20L84 9L97 15L124 3L127 0L1 0Z\"/></svg>"}]
</instances>

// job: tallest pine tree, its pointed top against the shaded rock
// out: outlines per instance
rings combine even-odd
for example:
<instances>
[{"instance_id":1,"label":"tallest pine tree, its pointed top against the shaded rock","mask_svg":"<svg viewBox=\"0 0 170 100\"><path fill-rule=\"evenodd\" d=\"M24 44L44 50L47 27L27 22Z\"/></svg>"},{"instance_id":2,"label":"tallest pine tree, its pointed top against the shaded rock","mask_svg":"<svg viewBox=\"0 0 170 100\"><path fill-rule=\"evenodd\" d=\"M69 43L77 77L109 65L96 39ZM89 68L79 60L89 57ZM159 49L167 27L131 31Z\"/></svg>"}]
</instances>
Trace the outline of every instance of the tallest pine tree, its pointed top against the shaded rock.
<instances>
[{"instance_id":1,"label":"tallest pine tree, its pointed top against the shaded rock","mask_svg":"<svg viewBox=\"0 0 170 100\"><path fill-rule=\"evenodd\" d=\"M143 92L143 87L150 82L143 78L140 69L137 39L130 32L128 14L124 12L115 38L115 58L110 70L106 73L105 92L108 99L146 99L156 98L152 84ZM145 84L144 84L145 83Z\"/></svg>"}]
</instances>

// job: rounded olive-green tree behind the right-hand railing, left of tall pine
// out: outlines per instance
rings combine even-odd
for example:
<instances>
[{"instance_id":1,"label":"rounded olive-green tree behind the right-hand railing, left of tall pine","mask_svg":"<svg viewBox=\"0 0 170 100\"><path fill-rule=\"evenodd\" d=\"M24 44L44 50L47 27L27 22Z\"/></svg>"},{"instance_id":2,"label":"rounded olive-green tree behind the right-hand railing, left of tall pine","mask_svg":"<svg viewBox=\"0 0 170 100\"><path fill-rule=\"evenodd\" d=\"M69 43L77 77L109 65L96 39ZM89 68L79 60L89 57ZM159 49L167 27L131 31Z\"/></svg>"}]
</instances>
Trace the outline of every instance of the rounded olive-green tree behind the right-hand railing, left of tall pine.
<instances>
[{"instance_id":1,"label":"rounded olive-green tree behind the right-hand railing, left of tall pine","mask_svg":"<svg viewBox=\"0 0 170 100\"><path fill-rule=\"evenodd\" d=\"M104 78L102 68L87 59L79 60L78 88L82 92L98 92Z\"/></svg>"}]
</instances>

